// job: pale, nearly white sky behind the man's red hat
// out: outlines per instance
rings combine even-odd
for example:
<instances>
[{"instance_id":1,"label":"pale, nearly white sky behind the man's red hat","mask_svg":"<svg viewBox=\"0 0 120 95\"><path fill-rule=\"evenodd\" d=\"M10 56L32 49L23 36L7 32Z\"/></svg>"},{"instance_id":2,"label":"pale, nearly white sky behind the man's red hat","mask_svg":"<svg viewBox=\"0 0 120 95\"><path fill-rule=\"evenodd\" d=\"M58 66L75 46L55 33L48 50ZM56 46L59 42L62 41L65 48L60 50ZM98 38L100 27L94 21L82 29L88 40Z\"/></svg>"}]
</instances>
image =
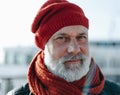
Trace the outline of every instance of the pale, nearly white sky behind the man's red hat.
<instances>
[{"instance_id":1,"label":"pale, nearly white sky behind the man's red hat","mask_svg":"<svg viewBox=\"0 0 120 95\"><path fill-rule=\"evenodd\" d=\"M0 0L0 49L34 44L32 21L46 0ZM89 18L89 39L120 41L120 0L69 0Z\"/></svg>"}]
</instances>

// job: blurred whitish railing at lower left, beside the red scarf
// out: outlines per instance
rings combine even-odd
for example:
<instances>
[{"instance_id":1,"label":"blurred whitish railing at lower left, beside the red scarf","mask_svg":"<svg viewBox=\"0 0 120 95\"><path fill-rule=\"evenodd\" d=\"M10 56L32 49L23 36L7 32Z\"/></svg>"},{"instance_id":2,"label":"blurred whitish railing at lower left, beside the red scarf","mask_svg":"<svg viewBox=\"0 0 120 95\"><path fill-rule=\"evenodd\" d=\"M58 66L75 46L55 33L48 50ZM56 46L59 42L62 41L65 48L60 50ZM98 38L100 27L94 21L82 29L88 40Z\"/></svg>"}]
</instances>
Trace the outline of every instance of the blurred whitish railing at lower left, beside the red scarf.
<instances>
[{"instance_id":1,"label":"blurred whitish railing at lower left, beside the red scarf","mask_svg":"<svg viewBox=\"0 0 120 95\"><path fill-rule=\"evenodd\" d=\"M0 95L26 82L27 66L0 66Z\"/></svg>"}]
</instances>

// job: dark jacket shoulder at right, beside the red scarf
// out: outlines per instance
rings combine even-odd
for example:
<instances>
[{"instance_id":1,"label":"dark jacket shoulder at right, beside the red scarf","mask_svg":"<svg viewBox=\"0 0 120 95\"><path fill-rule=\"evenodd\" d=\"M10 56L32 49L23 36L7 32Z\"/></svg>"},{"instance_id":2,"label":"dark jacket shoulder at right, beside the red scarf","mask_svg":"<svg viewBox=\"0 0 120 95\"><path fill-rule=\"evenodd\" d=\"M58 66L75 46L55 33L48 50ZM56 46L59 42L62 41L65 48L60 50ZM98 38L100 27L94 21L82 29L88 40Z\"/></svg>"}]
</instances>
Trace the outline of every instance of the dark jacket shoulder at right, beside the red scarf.
<instances>
[{"instance_id":1,"label":"dark jacket shoulder at right, beside the red scarf","mask_svg":"<svg viewBox=\"0 0 120 95\"><path fill-rule=\"evenodd\" d=\"M115 83L114 81L106 80L102 92L106 93L107 95L120 95L120 84Z\"/></svg>"}]
</instances>

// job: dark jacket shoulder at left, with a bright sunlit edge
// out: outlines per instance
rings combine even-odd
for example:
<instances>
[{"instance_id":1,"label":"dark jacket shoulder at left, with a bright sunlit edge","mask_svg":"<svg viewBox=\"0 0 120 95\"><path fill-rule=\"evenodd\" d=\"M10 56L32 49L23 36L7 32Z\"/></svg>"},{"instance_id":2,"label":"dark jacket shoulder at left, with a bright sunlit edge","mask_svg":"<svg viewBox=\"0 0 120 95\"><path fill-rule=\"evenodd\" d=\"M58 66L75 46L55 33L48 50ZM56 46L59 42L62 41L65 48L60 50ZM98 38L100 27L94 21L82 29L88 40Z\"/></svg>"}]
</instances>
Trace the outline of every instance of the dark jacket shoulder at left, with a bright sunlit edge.
<instances>
[{"instance_id":1,"label":"dark jacket shoulder at left, with a bright sunlit edge","mask_svg":"<svg viewBox=\"0 0 120 95\"><path fill-rule=\"evenodd\" d=\"M10 92L7 93L7 95L33 95L33 94L29 90L28 83L26 83L20 88L15 88L11 90Z\"/></svg>"}]
</instances>

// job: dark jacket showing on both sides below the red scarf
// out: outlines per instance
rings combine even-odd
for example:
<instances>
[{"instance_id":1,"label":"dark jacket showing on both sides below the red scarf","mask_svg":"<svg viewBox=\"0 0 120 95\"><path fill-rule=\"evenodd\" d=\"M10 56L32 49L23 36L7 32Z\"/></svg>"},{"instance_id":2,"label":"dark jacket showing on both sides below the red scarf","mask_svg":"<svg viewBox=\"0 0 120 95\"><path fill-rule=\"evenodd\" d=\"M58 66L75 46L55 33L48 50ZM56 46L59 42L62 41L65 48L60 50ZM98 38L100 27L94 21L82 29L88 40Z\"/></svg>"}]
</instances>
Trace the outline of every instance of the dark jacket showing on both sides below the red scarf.
<instances>
[{"instance_id":1,"label":"dark jacket showing on both sides below the red scarf","mask_svg":"<svg viewBox=\"0 0 120 95\"><path fill-rule=\"evenodd\" d=\"M33 95L30 90L28 83L19 89L10 91L7 95ZM102 92L98 95L120 95L120 85L114 82L105 81L105 86Z\"/></svg>"}]
</instances>

